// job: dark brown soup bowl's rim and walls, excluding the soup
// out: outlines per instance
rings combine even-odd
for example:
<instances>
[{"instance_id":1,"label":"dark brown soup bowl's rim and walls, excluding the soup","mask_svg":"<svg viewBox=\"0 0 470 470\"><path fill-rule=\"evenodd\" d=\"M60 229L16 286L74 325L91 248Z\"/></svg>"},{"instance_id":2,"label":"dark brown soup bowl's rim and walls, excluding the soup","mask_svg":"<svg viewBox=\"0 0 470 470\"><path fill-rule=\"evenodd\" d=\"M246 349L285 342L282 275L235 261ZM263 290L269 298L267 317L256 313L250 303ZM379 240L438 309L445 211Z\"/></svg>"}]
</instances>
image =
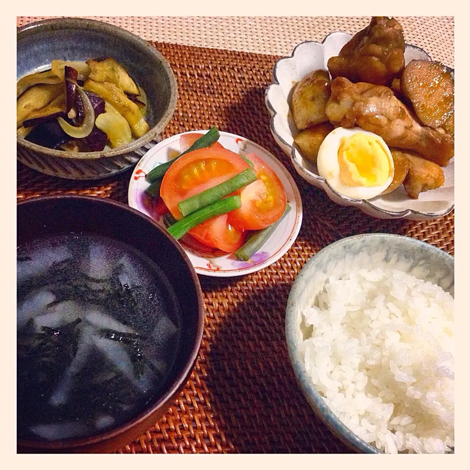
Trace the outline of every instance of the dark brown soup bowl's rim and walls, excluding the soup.
<instances>
[{"instance_id":1,"label":"dark brown soup bowl's rim and walls, excluding the soup","mask_svg":"<svg viewBox=\"0 0 470 470\"><path fill-rule=\"evenodd\" d=\"M181 314L181 338L164 385L137 416L102 434L61 442L19 440L19 452L115 452L166 413L192 372L202 340L203 297L197 275L180 245L150 217L129 206L90 196L50 196L18 204L18 244L47 235L105 235L153 260L169 280ZM151 243L149 243L151 240Z\"/></svg>"}]
</instances>

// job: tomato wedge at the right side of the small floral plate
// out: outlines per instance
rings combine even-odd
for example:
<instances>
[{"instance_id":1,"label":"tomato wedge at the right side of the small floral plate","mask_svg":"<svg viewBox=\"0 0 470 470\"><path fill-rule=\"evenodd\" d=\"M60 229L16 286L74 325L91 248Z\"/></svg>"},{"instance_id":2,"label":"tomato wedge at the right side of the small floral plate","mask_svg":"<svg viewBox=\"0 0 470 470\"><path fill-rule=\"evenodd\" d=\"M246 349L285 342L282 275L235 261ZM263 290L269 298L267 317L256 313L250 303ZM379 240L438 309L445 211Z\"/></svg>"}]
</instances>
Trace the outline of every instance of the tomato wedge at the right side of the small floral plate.
<instances>
[{"instance_id":1,"label":"tomato wedge at the right side of the small floral plate","mask_svg":"<svg viewBox=\"0 0 470 470\"><path fill-rule=\"evenodd\" d=\"M241 207L229 213L228 222L243 230L261 230L281 218L287 199L274 170L254 153L246 158L253 162L258 180L241 190Z\"/></svg>"}]
</instances>

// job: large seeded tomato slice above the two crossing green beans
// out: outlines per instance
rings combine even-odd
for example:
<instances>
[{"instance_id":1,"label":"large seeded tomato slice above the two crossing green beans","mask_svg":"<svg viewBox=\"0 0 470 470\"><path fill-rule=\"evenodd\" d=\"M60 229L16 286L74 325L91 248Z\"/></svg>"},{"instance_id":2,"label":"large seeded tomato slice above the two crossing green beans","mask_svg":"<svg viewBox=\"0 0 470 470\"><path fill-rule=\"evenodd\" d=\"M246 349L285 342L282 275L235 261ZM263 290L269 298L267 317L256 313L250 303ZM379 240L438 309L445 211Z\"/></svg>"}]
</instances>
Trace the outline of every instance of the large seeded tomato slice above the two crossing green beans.
<instances>
[{"instance_id":1,"label":"large seeded tomato slice above the two crossing green beans","mask_svg":"<svg viewBox=\"0 0 470 470\"><path fill-rule=\"evenodd\" d=\"M162 180L160 195L168 210L181 219L178 203L232 178L249 165L225 148L201 148L183 155L172 164Z\"/></svg>"}]
</instances>

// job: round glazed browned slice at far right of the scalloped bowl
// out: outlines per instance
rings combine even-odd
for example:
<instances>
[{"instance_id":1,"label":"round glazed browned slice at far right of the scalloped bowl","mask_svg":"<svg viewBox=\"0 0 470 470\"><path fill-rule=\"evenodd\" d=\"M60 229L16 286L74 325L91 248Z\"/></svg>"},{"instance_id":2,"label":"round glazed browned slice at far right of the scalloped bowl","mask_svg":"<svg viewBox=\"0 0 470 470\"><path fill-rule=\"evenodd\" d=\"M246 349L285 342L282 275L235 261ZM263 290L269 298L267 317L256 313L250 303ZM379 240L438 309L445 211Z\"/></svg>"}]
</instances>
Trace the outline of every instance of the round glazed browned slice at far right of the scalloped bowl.
<instances>
[{"instance_id":1,"label":"round glazed browned slice at far right of the scalloped bowl","mask_svg":"<svg viewBox=\"0 0 470 470\"><path fill-rule=\"evenodd\" d=\"M454 111L454 79L440 62L412 60L403 71L400 88L426 126L443 126Z\"/></svg>"}]
</instances>

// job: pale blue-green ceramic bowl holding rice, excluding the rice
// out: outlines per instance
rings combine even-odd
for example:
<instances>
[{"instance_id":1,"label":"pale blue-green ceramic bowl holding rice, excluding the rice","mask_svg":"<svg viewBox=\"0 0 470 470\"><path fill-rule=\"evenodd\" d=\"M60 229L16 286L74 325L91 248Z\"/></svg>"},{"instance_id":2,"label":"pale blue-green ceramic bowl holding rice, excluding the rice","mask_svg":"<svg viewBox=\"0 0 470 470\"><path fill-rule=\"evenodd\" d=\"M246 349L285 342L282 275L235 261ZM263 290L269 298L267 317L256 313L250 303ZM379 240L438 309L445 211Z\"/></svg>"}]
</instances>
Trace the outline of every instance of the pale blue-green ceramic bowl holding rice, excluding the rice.
<instances>
[{"instance_id":1,"label":"pale blue-green ceramic bowl holding rice, excluding the rice","mask_svg":"<svg viewBox=\"0 0 470 470\"><path fill-rule=\"evenodd\" d=\"M354 235L332 243L305 264L292 286L285 316L289 358L306 400L333 434L348 447L364 453L378 453L378 449L360 439L335 416L305 372L300 349L302 311L313 305L330 276L347 274L351 266L374 269L384 264L438 284L454 295L454 258L444 251L401 235Z\"/></svg>"}]
</instances>

